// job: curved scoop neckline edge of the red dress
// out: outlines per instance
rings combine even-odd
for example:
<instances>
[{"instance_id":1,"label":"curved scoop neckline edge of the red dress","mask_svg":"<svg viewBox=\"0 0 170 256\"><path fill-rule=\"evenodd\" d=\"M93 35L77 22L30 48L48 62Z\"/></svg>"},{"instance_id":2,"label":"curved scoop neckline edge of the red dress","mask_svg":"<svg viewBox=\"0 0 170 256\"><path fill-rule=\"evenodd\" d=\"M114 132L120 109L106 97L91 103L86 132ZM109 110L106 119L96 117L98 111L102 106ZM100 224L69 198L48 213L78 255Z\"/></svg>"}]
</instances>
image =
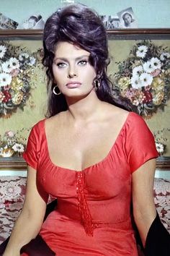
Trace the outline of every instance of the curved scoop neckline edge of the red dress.
<instances>
[{"instance_id":1,"label":"curved scoop neckline edge of the red dress","mask_svg":"<svg viewBox=\"0 0 170 256\"><path fill-rule=\"evenodd\" d=\"M107 155L101 161L98 161L97 163L93 163L91 166L87 166L86 168L83 168L82 170L75 170L75 169L72 169L72 168L65 168L63 166L58 166L57 164L53 163L53 161L50 158L50 153L49 153L49 150L48 150L48 140L47 140L47 136L46 136L46 132L45 132L45 119L44 119L43 120L43 132L44 132L44 137L45 137L45 147L46 147L46 153L48 155L48 160L53 165L53 167L59 168L59 169L62 169L62 170L66 170L66 171L72 171L73 173L75 173L75 172L76 173L84 172L86 170L89 170L90 168L93 168L94 166L99 166L101 163L104 163L104 161L107 161L107 159L109 158L109 155L112 153L112 150L115 148L115 145L117 144L117 141L119 140L120 136L122 135L123 130L126 127L126 124L128 123L128 119L129 119L131 113L133 113L133 112L129 112L128 116L126 116L125 122L124 122L124 124L122 124L120 132L118 133L118 135L116 137L116 140L115 140L115 142L113 142L112 147L109 149Z\"/></svg>"}]
</instances>

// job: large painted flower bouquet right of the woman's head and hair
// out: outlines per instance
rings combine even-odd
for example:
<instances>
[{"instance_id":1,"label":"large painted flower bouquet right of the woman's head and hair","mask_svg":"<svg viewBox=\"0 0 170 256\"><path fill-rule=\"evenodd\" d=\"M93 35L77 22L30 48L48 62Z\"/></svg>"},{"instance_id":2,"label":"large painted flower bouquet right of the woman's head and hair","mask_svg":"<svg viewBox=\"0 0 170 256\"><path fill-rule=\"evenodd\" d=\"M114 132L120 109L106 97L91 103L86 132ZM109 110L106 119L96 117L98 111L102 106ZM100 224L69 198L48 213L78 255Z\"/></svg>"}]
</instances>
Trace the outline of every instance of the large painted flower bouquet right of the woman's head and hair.
<instances>
[{"instance_id":1,"label":"large painted flower bouquet right of the woman's head and hair","mask_svg":"<svg viewBox=\"0 0 170 256\"><path fill-rule=\"evenodd\" d=\"M131 48L125 61L118 61L112 78L115 90L133 111L151 117L170 98L170 51L144 40Z\"/></svg>"}]
</instances>

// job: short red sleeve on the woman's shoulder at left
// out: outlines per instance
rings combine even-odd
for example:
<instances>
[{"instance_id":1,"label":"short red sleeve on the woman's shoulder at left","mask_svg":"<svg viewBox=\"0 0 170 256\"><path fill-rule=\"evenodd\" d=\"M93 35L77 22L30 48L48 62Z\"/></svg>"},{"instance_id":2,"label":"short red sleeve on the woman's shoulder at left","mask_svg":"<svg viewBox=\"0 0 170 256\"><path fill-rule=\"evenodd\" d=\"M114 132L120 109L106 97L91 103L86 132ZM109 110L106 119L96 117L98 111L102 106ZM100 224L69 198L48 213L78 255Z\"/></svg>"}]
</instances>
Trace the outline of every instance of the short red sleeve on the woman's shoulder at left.
<instances>
[{"instance_id":1,"label":"short red sleeve on the woman's shoulder at left","mask_svg":"<svg viewBox=\"0 0 170 256\"><path fill-rule=\"evenodd\" d=\"M29 166L37 170L37 163L40 157L40 134L42 121L35 124L27 140L27 147L23 153L23 158Z\"/></svg>"}]
</instances>

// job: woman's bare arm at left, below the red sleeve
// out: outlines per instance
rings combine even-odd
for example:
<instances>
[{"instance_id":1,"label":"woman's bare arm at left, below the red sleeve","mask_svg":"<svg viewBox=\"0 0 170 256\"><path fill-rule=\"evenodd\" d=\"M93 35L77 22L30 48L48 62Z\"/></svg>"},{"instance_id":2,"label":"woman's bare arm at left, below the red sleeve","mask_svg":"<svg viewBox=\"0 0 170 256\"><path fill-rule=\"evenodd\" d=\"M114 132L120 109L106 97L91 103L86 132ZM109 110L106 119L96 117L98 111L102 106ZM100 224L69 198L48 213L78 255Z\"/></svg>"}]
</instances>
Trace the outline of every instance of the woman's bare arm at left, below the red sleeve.
<instances>
[{"instance_id":1,"label":"woman's bare arm at left, below the red sleeve","mask_svg":"<svg viewBox=\"0 0 170 256\"><path fill-rule=\"evenodd\" d=\"M28 166L27 191L22 213L19 215L3 256L18 256L20 249L34 239L45 216L46 203L36 186L36 170Z\"/></svg>"}]
</instances>

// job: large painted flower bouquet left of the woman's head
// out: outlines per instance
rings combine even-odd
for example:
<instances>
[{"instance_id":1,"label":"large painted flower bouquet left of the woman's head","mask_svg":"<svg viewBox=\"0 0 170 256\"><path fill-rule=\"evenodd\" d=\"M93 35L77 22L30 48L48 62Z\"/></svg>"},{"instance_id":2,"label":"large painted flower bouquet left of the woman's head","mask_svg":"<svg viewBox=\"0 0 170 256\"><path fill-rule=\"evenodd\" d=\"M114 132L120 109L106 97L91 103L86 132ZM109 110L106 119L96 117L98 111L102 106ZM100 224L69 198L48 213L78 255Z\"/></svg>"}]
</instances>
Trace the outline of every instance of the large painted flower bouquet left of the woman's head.
<instances>
[{"instance_id":1,"label":"large painted flower bouquet left of the woman's head","mask_svg":"<svg viewBox=\"0 0 170 256\"><path fill-rule=\"evenodd\" d=\"M18 108L24 110L28 103L35 65L36 52L9 41L0 43L0 118L9 118ZM33 104L32 104L33 106Z\"/></svg>"}]
</instances>

